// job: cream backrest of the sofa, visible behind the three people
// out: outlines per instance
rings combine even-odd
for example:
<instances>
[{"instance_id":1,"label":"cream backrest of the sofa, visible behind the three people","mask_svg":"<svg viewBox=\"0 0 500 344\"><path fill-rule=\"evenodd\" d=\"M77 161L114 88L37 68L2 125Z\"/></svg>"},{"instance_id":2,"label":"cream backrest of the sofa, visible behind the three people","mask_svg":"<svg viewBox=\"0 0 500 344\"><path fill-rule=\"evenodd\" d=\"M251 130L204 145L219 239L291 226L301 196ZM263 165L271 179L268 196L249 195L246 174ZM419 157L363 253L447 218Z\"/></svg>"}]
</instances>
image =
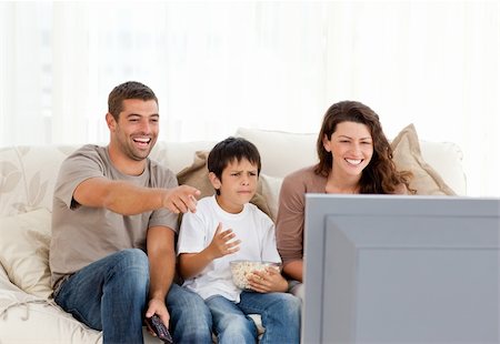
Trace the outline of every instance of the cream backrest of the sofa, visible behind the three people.
<instances>
[{"instance_id":1,"label":"cream backrest of the sofa, visible behind the three people","mask_svg":"<svg viewBox=\"0 0 500 344\"><path fill-rule=\"evenodd\" d=\"M237 136L253 142L262 156L262 173L281 179L313 164L316 134L239 129ZM197 151L216 142L158 142L151 158L180 172L193 162ZM453 143L420 142L422 155L457 194L467 194L462 153ZM52 210L52 194L61 162L78 145L29 145L0 148L0 216L37 208ZM278 184L279 185L279 184Z\"/></svg>"}]
</instances>

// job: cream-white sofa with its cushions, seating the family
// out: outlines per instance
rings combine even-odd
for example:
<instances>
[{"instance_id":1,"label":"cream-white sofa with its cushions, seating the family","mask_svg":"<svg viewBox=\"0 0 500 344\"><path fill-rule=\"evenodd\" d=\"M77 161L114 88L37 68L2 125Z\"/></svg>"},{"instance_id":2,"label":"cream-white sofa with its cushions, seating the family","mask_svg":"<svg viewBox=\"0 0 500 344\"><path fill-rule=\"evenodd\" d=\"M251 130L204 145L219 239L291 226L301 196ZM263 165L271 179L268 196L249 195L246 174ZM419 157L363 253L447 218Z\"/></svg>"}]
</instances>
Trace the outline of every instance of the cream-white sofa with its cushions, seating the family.
<instances>
[{"instance_id":1,"label":"cream-white sofa with its cushions, seating the family","mask_svg":"<svg viewBox=\"0 0 500 344\"><path fill-rule=\"evenodd\" d=\"M247 138L259 148L262 156L259 193L274 217L282 178L316 161L316 134L240 129L236 135ZM183 170L189 180L196 170L191 166L194 153L208 151L213 144L158 142L152 158L176 173ZM452 190L459 195L467 193L462 155L456 144L419 142L412 125L401 131L392 144L398 168L413 171L418 193L451 194ZM50 297L52 190L60 163L76 148L0 148L1 344L102 342L100 332L76 321ZM149 334L144 338L148 343L158 342Z\"/></svg>"}]
</instances>

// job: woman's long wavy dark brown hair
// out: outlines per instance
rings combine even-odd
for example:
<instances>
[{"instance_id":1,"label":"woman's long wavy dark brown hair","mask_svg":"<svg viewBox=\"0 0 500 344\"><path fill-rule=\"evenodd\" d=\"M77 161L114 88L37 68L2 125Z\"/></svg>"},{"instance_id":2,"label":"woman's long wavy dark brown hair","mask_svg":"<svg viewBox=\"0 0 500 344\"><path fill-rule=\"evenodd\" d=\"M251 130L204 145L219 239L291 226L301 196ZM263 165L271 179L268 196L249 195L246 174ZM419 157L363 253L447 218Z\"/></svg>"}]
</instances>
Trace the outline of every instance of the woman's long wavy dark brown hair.
<instances>
[{"instance_id":1,"label":"woman's long wavy dark brown hair","mask_svg":"<svg viewBox=\"0 0 500 344\"><path fill-rule=\"evenodd\" d=\"M397 171L392 161L392 149L379 115L369 107L357 101L342 101L334 103L328 109L318 135L317 151L319 163L314 168L317 174L328 176L332 168L332 154L323 146L323 138L331 140L331 135L337 130L337 125L342 122L356 122L368 127L373 142L373 155L370 163L364 168L360 180L360 193L394 193L398 186L404 184L409 188L412 176L409 171Z\"/></svg>"}]
</instances>

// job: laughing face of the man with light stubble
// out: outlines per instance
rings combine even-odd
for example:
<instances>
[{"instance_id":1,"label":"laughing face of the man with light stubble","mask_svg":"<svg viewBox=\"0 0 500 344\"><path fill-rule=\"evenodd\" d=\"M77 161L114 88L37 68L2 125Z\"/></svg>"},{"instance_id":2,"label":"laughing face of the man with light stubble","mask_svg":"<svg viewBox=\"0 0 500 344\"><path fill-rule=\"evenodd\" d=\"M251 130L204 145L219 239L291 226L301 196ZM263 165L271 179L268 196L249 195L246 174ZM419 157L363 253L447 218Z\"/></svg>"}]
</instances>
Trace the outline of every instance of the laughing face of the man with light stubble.
<instances>
[{"instance_id":1,"label":"laughing face of the man with light stubble","mask_svg":"<svg viewBox=\"0 0 500 344\"><path fill-rule=\"evenodd\" d=\"M118 122L109 115L111 141L129 159L141 161L151 152L159 132L158 104L154 100L123 100Z\"/></svg>"}]
</instances>

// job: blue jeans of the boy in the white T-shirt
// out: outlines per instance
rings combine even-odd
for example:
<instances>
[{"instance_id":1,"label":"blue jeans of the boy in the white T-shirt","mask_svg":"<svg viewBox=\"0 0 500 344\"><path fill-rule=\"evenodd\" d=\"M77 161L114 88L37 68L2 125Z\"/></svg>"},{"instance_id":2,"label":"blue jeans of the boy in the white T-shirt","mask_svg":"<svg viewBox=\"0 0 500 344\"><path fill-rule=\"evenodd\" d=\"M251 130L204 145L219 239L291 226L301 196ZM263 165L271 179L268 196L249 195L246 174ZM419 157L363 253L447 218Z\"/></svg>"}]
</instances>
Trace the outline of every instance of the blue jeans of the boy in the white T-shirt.
<instances>
[{"instance_id":1,"label":"blue jeans of the boy in the white T-shirt","mask_svg":"<svg viewBox=\"0 0 500 344\"><path fill-rule=\"evenodd\" d=\"M301 301L287 293L243 291L240 302L214 295L204 301L212 313L213 328L220 344L252 343L257 327L248 314L260 314L266 332L260 343L299 343Z\"/></svg>"}]
</instances>

